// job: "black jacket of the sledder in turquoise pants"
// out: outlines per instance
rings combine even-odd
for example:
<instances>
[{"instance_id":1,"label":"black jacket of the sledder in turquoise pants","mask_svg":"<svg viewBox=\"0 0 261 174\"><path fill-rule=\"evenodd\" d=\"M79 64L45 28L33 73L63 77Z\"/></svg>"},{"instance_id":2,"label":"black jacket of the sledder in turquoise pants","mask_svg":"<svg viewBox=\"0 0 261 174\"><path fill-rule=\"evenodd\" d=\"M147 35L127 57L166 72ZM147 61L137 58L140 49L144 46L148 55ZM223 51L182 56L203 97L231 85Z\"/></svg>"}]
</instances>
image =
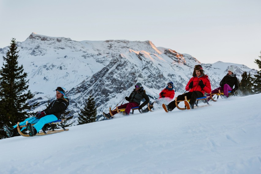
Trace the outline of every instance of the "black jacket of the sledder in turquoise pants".
<instances>
[{"instance_id":1,"label":"black jacket of the sledder in turquoise pants","mask_svg":"<svg viewBox=\"0 0 261 174\"><path fill-rule=\"evenodd\" d=\"M67 101L63 99L56 99L49 104L49 106L44 109L42 112L45 112L46 115L55 115L57 119L60 119L62 113L67 109L69 105L69 99L66 98Z\"/></svg>"}]
</instances>

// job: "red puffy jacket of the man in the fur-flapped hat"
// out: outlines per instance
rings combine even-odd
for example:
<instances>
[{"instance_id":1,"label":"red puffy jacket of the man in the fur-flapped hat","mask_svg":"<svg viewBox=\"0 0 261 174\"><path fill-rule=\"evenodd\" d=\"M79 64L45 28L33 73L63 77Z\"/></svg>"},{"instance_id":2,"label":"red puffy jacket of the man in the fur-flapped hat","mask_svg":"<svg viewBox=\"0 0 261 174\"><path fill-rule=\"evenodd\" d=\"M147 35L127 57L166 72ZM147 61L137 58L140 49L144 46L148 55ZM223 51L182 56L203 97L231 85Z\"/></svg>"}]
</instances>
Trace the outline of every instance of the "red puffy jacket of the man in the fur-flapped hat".
<instances>
[{"instance_id":1,"label":"red puffy jacket of the man in the fur-flapped hat","mask_svg":"<svg viewBox=\"0 0 261 174\"><path fill-rule=\"evenodd\" d=\"M202 80L203 81L203 84L205 85L203 89L201 89L201 87L199 86L199 81ZM190 89L188 87L188 85L190 84L190 82L193 81L193 87ZM200 91L202 92L202 94L204 95L205 92L206 93L210 93L211 92L211 84L210 84L210 80L208 79L208 76L205 75L205 76L202 76L202 77L192 77L188 83L187 83L187 86L185 87L185 89L188 91L189 89L189 92L193 92L193 91Z\"/></svg>"}]
</instances>

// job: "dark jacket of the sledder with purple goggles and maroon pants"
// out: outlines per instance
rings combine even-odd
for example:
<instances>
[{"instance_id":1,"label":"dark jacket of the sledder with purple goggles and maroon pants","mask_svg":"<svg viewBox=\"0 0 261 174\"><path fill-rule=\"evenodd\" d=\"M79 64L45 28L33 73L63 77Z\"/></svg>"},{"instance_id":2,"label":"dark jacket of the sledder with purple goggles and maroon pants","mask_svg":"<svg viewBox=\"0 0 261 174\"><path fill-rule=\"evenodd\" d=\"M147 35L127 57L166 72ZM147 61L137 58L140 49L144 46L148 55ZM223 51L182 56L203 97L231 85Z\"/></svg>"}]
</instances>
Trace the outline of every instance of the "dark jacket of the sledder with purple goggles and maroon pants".
<instances>
[{"instance_id":1,"label":"dark jacket of the sledder with purple goggles and maroon pants","mask_svg":"<svg viewBox=\"0 0 261 174\"><path fill-rule=\"evenodd\" d=\"M141 100L145 99L145 101L141 104ZM143 87L141 87L141 89L139 91L135 91L135 89L132 91L132 93L130 93L130 96L128 97L129 102L135 102L138 105L141 105L142 107L144 107L146 104L149 103L149 97L148 95L145 93Z\"/></svg>"}]
</instances>

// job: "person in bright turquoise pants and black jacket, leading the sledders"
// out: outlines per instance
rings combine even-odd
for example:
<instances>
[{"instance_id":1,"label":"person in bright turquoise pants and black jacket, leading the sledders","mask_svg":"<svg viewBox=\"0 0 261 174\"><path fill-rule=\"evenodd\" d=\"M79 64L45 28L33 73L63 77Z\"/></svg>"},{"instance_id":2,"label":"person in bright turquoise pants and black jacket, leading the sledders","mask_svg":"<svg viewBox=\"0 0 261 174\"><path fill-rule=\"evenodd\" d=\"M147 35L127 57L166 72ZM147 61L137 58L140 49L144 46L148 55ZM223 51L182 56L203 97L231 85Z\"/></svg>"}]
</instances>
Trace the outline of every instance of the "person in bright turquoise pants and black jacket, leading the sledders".
<instances>
[{"instance_id":1,"label":"person in bright turquoise pants and black jacket, leading the sledders","mask_svg":"<svg viewBox=\"0 0 261 174\"><path fill-rule=\"evenodd\" d=\"M28 121L26 128L28 129L30 136L36 135L36 133L39 132L46 123L60 119L62 113L67 109L69 99L65 97L65 91L61 87L57 87L55 91L56 100L52 101L51 104L49 104L49 106L43 111L37 112L35 117L25 119L20 123L20 126L23 126L26 124L26 121ZM32 124L35 125L32 126ZM17 125L9 128L6 124L4 124L3 129L8 137L15 136L18 133ZM23 127L21 131L24 129L25 127Z\"/></svg>"}]
</instances>

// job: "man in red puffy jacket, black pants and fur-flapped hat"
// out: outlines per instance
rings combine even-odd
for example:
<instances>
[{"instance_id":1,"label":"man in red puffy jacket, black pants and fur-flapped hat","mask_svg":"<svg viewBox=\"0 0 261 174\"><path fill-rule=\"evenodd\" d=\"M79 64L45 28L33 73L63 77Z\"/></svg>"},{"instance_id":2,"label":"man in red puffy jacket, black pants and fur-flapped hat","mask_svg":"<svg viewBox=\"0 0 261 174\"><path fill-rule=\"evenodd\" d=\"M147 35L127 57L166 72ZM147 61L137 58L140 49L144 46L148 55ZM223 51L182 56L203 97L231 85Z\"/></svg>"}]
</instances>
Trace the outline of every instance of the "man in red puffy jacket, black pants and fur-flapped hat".
<instances>
[{"instance_id":1,"label":"man in red puffy jacket, black pants and fur-flapped hat","mask_svg":"<svg viewBox=\"0 0 261 174\"><path fill-rule=\"evenodd\" d=\"M205 92L210 93L210 80L208 79L208 76L204 74L201 65L194 66L193 77L188 81L185 89L186 91L189 90L189 92L179 95L177 100L185 100L185 96L187 96L187 99L190 100L188 106L190 108L188 109L193 109L196 99L203 97ZM168 105L162 104L162 107L166 112L172 111L174 108L176 108L175 100L170 102Z\"/></svg>"}]
</instances>

